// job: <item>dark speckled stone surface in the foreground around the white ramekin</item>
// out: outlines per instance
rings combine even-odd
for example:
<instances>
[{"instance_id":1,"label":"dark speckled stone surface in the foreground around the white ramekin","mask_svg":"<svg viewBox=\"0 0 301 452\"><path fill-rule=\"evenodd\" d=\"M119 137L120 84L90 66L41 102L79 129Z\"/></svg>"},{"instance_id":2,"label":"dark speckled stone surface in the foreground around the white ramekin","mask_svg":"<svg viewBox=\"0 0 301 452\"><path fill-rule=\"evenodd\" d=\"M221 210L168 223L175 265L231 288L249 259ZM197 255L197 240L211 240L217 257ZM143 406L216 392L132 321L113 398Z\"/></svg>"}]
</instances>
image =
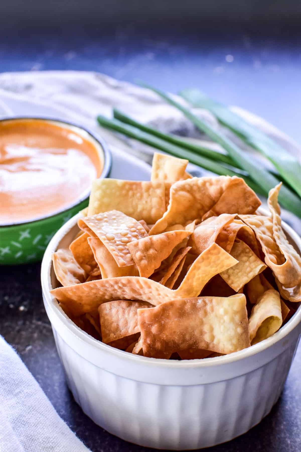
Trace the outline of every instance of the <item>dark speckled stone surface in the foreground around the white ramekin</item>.
<instances>
[{"instance_id":1,"label":"dark speckled stone surface in the foreground around the white ramekin","mask_svg":"<svg viewBox=\"0 0 301 452\"><path fill-rule=\"evenodd\" d=\"M144 452L83 414L67 389L40 288L40 265L0 267L0 334L12 344L59 415L93 452ZM272 412L250 432L209 452L297 452L301 449L301 348ZM205 449L203 449L205 451Z\"/></svg>"}]
</instances>

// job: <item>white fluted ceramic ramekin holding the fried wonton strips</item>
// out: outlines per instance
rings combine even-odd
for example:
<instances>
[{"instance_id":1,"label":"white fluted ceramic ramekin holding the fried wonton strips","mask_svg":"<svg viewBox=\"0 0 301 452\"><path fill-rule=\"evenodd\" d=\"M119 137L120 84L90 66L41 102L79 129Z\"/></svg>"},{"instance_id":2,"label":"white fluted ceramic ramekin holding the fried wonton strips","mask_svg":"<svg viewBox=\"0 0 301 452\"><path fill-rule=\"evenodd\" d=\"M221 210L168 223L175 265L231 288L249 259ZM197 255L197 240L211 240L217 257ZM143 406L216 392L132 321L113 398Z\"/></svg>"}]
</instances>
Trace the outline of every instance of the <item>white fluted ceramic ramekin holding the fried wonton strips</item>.
<instances>
[{"instance_id":1,"label":"white fluted ceramic ramekin holding the fried wonton strips","mask_svg":"<svg viewBox=\"0 0 301 452\"><path fill-rule=\"evenodd\" d=\"M300 338L301 307L269 339L218 358L173 361L112 348L74 325L49 293L57 285L51 254L69 245L79 217L62 226L46 249L42 291L69 388L83 411L126 441L171 450L224 443L269 414ZM296 232L285 223L283 229L301 252Z\"/></svg>"}]
</instances>

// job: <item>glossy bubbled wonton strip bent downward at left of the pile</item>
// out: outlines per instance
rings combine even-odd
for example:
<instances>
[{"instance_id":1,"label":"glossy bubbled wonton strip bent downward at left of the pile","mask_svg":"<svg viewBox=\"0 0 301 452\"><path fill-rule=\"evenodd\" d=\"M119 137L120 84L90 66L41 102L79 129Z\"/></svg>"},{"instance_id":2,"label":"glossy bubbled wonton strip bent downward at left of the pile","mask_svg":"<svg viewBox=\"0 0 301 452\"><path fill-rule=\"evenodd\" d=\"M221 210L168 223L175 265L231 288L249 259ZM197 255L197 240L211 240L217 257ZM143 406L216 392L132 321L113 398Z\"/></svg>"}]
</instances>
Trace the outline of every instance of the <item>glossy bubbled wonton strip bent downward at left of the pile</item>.
<instances>
[{"instance_id":1,"label":"glossy bubbled wonton strip bent downward at left of the pile","mask_svg":"<svg viewBox=\"0 0 301 452\"><path fill-rule=\"evenodd\" d=\"M81 218L78 225L90 236L102 241L119 267L134 265L128 243L148 237L148 233L138 221L118 210Z\"/></svg>"}]
</instances>

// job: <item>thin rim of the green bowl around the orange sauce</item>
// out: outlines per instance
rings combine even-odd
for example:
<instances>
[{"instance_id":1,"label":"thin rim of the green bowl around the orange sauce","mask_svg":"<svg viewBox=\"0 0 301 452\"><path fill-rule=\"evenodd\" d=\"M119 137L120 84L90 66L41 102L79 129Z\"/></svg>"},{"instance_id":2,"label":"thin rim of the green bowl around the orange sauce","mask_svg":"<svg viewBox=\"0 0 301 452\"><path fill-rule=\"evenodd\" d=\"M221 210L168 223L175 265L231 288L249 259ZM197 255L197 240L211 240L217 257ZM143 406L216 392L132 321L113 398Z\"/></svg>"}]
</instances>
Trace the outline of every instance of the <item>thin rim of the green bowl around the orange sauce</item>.
<instances>
[{"instance_id":1,"label":"thin rim of the green bowl around the orange sauce","mask_svg":"<svg viewBox=\"0 0 301 452\"><path fill-rule=\"evenodd\" d=\"M36 120L36 121L45 121L45 122L58 122L60 124L65 124L67 126L76 127L78 129L81 129L83 132L86 132L90 137L92 137L92 139L94 141L96 141L98 143L98 145L102 149L102 153L103 153L103 168L102 168L101 174L98 176L97 179L104 179L110 174L111 166L112 166L111 150L110 150L109 146L107 145L106 141L102 137L100 137L98 134L95 134L94 132L91 132L91 130L88 127L80 126L76 122L65 121L63 119L54 118L54 117L47 117L47 116L5 117L5 118L1 118L0 119L0 124L1 124L1 122L4 122L4 121L15 121L15 120L18 121L18 120L22 120L22 119L33 119L33 120ZM70 210L73 207L77 206L81 202L85 201L86 199L89 198L89 195L90 195L90 193L84 194L77 201L72 202L68 207L64 207L62 209L59 209L58 211L56 211L54 213L51 213L49 215L44 215L42 217L34 218L33 220L28 220L28 221L14 221L13 223L1 224L0 228L10 228L10 227L14 227L14 226L22 226L22 225L27 225L29 223L30 224L31 223L35 223L37 221L46 220L46 219L51 218L51 217L56 217L57 215L60 215L61 213L64 213L64 212L67 212L68 210Z\"/></svg>"}]
</instances>

